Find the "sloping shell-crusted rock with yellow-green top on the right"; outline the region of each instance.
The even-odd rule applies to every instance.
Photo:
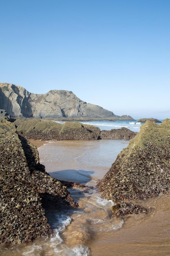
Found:
[[[169,193],[170,119],[165,119],[160,125],[146,121],[128,147],[119,153],[97,187],[104,198],[117,203],[117,207],[113,207],[114,216],[146,213],[146,209],[134,207],[130,201]]]

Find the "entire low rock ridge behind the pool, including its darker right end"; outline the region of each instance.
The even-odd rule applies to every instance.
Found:
[[[137,134],[127,128],[100,131],[96,126],[68,122],[59,124],[55,121],[40,119],[16,119],[14,124],[17,132],[26,139],[42,140],[97,140],[97,139],[125,139],[129,140]]]

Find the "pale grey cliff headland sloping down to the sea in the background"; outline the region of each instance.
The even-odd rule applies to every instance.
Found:
[[[121,119],[111,111],[80,100],[73,92],[51,90],[46,94],[34,94],[9,83],[0,83],[0,109],[5,110],[11,117]],[[133,120],[129,116],[122,118]]]

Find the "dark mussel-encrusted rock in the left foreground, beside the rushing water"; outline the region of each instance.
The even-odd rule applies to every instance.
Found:
[[[45,209],[77,207],[66,186],[40,164],[38,150],[0,123],[0,243],[25,243],[52,232]]]

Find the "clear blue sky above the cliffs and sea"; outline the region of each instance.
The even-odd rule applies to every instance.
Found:
[[[170,118],[170,0],[1,0],[0,82]]]

